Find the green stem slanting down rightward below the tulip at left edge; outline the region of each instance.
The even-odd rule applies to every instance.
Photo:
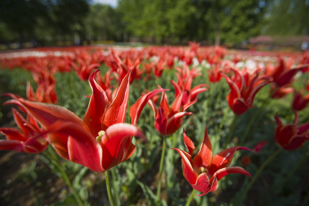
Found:
[[[48,147],[48,151],[49,151],[50,154],[47,153],[46,151],[44,151],[43,153],[50,158],[50,160],[53,162],[53,164],[61,172],[62,178],[66,182],[66,185],[70,188],[70,190],[71,190],[76,202],[78,203],[78,205],[84,206],[82,200],[79,198],[77,192],[75,191],[74,187],[72,186],[72,183],[71,183],[68,175],[66,174],[66,171],[64,171],[63,168],[61,167],[61,165],[59,164],[58,159],[57,159],[55,153],[53,152],[53,149],[50,146]]]

